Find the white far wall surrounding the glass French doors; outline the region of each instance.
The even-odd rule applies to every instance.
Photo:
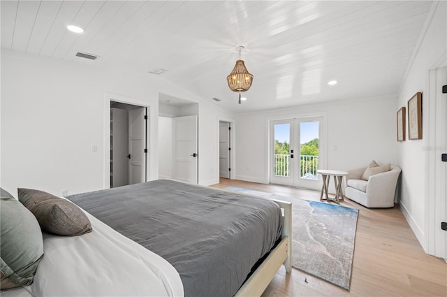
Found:
[[[348,170],[374,159],[397,164],[395,96],[321,103],[236,117],[236,179],[268,182],[269,119],[323,115],[325,168]]]

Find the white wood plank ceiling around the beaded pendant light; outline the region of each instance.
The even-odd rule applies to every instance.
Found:
[[[159,78],[233,113],[397,95],[432,1],[1,1],[1,47]],[[85,29],[74,34],[66,29]],[[237,104],[226,75],[254,74]],[[98,55],[96,61],[76,52]],[[337,80],[335,86],[328,81]],[[216,97],[220,102],[212,101]]]

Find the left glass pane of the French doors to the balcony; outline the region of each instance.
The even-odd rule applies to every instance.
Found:
[[[289,146],[291,124],[274,124],[274,172],[275,176],[289,176]]]

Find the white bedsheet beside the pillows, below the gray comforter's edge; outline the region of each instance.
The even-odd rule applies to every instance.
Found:
[[[44,233],[34,282],[1,296],[184,296],[168,261],[86,214],[91,233]]]

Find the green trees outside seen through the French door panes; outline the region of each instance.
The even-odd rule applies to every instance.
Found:
[[[287,141],[280,143],[274,140],[274,154],[287,155],[290,152],[290,145]],[[314,138],[307,143],[303,143],[300,147],[301,156],[318,156],[318,138]],[[316,176],[316,168],[318,168],[318,158],[301,158],[300,160],[300,176],[307,173],[312,173]],[[274,162],[274,175],[289,176],[288,175],[288,158],[277,157]]]

